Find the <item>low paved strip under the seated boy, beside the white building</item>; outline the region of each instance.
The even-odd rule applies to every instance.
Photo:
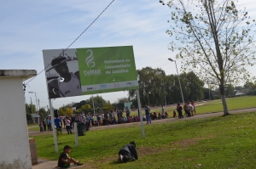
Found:
[[[32,169],[55,169],[57,166],[58,161],[45,161],[45,160],[38,160],[38,165],[32,166]],[[83,168],[84,166],[76,166],[71,165],[68,168]]]

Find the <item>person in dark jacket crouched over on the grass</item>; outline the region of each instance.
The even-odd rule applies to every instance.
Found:
[[[131,141],[130,144],[123,146],[119,150],[120,162],[135,161],[137,159],[138,157],[137,157],[136,144],[134,141]]]

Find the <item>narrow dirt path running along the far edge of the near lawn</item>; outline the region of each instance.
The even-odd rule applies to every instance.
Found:
[[[242,109],[242,110],[230,110],[230,114],[250,113],[250,112],[256,112],[256,107],[255,108]],[[191,116],[191,117],[184,117],[183,119],[178,119],[178,118],[161,119],[161,120],[152,121],[152,125],[166,123],[166,122],[172,122],[172,121],[189,121],[189,120],[192,120],[192,119],[203,119],[203,118],[221,116],[221,115],[223,115],[223,112],[212,112],[212,113],[207,113],[207,114],[203,114],[203,115],[194,115],[194,116]],[[143,124],[146,125],[146,122],[144,121]],[[111,129],[111,128],[117,128],[117,127],[137,127],[137,126],[140,126],[140,125],[141,125],[140,122],[131,122],[131,123],[118,124],[118,125],[108,125],[108,126],[102,126],[102,127],[90,127],[90,131]],[[52,133],[52,131],[28,132],[30,137],[31,136],[44,135],[44,134],[51,134],[51,133]],[[66,130],[63,130],[63,133],[66,133]]]

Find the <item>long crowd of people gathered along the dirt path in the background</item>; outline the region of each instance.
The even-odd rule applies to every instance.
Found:
[[[165,111],[163,105],[161,105],[161,113],[150,113],[150,107],[145,104],[144,106],[145,115],[143,115],[143,121],[147,121],[147,124],[151,124],[152,120],[158,119],[166,119],[169,117],[168,113]],[[183,110],[185,111],[185,116],[194,116],[195,115],[195,103],[194,101],[186,102],[183,106],[177,104],[177,114],[178,118],[183,118]],[[173,112],[173,117],[176,117],[176,111]],[[85,124],[85,128],[89,130],[90,127],[95,126],[105,126],[105,125],[113,125],[113,124],[121,124],[127,122],[138,122],[140,121],[140,115],[138,110],[138,115],[131,116],[131,112],[129,109],[125,109],[125,112],[122,110],[111,110],[108,112],[102,112],[97,115],[72,115],[66,116],[61,119],[60,117],[55,117],[55,127],[57,129],[64,128],[67,129],[67,133],[72,133],[72,128],[74,126],[74,122],[82,122]],[[51,120],[50,117],[47,121],[41,121],[39,124],[40,132],[46,132],[46,126],[48,126],[48,131],[51,130]]]

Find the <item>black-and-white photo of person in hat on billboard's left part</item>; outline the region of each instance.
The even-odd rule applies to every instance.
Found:
[[[77,50],[43,50],[49,99],[82,95]]]

